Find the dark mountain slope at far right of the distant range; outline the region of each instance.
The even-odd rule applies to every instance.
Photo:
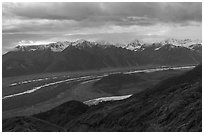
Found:
[[[164,46],[153,44],[142,47],[137,54],[138,57],[143,57],[146,63],[161,65],[199,64],[202,59],[201,53],[170,44]]]

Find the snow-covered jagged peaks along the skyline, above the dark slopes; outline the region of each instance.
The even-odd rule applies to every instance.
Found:
[[[191,50],[198,50],[201,51],[201,41],[200,40],[191,40],[191,39],[167,39],[162,42],[155,42],[151,44],[144,43],[140,40],[134,40],[127,45],[118,45],[118,44],[111,44],[107,41],[87,41],[84,39],[76,40],[76,41],[62,41],[62,42],[55,42],[49,44],[41,44],[41,45],[18,45],[12,51],[43,51],[43,50],[51,50],[53,52],[61,52],[66,49],[68,46],[74,46],[79,49],[83,48],[91,48],[94,46],[107,48],[115,45],[116,47],[122,46],[125,49],[129,49],[132,51],[143,51],[146,48],[154,49],[155,51],[160,50],[161,48],[167,48],[172,50],[177,47],[186,47]]]

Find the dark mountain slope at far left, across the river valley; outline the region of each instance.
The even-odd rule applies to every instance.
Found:
[[[44,69],[47,68],[57,57],[59,56],[50,50],[9,52],[3,55],[3,76],[44,72]]]

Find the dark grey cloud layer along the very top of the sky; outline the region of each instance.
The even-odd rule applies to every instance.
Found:
[[[202,3],[3,3],[3,16],[30,19],[82,21],[102,17],[106,21],[128,16],[160,21],[201,21]],[[97,21],[97,20],[96,20]]]

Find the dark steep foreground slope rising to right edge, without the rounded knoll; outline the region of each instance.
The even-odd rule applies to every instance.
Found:
[[[129,99],[99,104],[68,131],[202,131],[202,67]]]

